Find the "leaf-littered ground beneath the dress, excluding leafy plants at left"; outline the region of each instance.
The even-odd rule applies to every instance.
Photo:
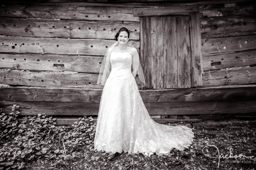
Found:
[[[108,160],[93,144],[77,147],[70,156],[56,160],[38,158],[25,164],[26,170],[254,170],[256,167],[256,132],[242,130],[193,129],[194,142],[184,151],[173,149],[167,156],[117,153]],[[207,145],[214,145],[208,146]],[[206,147],[206,148],[204,148]],[[203,154],[204,148],[204,154]],[[231,149],[231,150],[230,150]],[[223,157],[218,160],[218,154]],[[241,158],[234,158],[235,155]],[[206,156],[208,155],[208,156]],[[231,156],[230,156],[231,155]],[[252,157],[252,158],[245,158]],[[210,158],[215,157],[215,158]]]

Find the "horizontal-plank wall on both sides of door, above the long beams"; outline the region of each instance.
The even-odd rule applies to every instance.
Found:
[[[122,26],[140,47],[140,19],[133,16],[134,7],[88,5],[94,4],[2,5],[0,83],[102,88],[92,73],[99,72]],[[253,2],[199,5],[204,87],[256,83],[255,8]]]

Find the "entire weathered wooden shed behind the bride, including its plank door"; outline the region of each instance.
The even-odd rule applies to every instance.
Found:
[[[0,6],[0,107],[70,124],[97,117],[102,58],[121,27],[140,52],[155,121],[255,119],[254,0],[8,0]],[[164,119],[163,119],[164,118]]]

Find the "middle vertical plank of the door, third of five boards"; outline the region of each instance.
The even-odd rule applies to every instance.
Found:
[[[175,16],[164,17],[164,88],[178,88],[176,24]]]

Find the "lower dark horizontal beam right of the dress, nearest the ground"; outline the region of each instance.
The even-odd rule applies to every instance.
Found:
[[[152,115],[193,115],[250,113],[256,111],[256,100],[223,100],[200,102],[145,103]]]

